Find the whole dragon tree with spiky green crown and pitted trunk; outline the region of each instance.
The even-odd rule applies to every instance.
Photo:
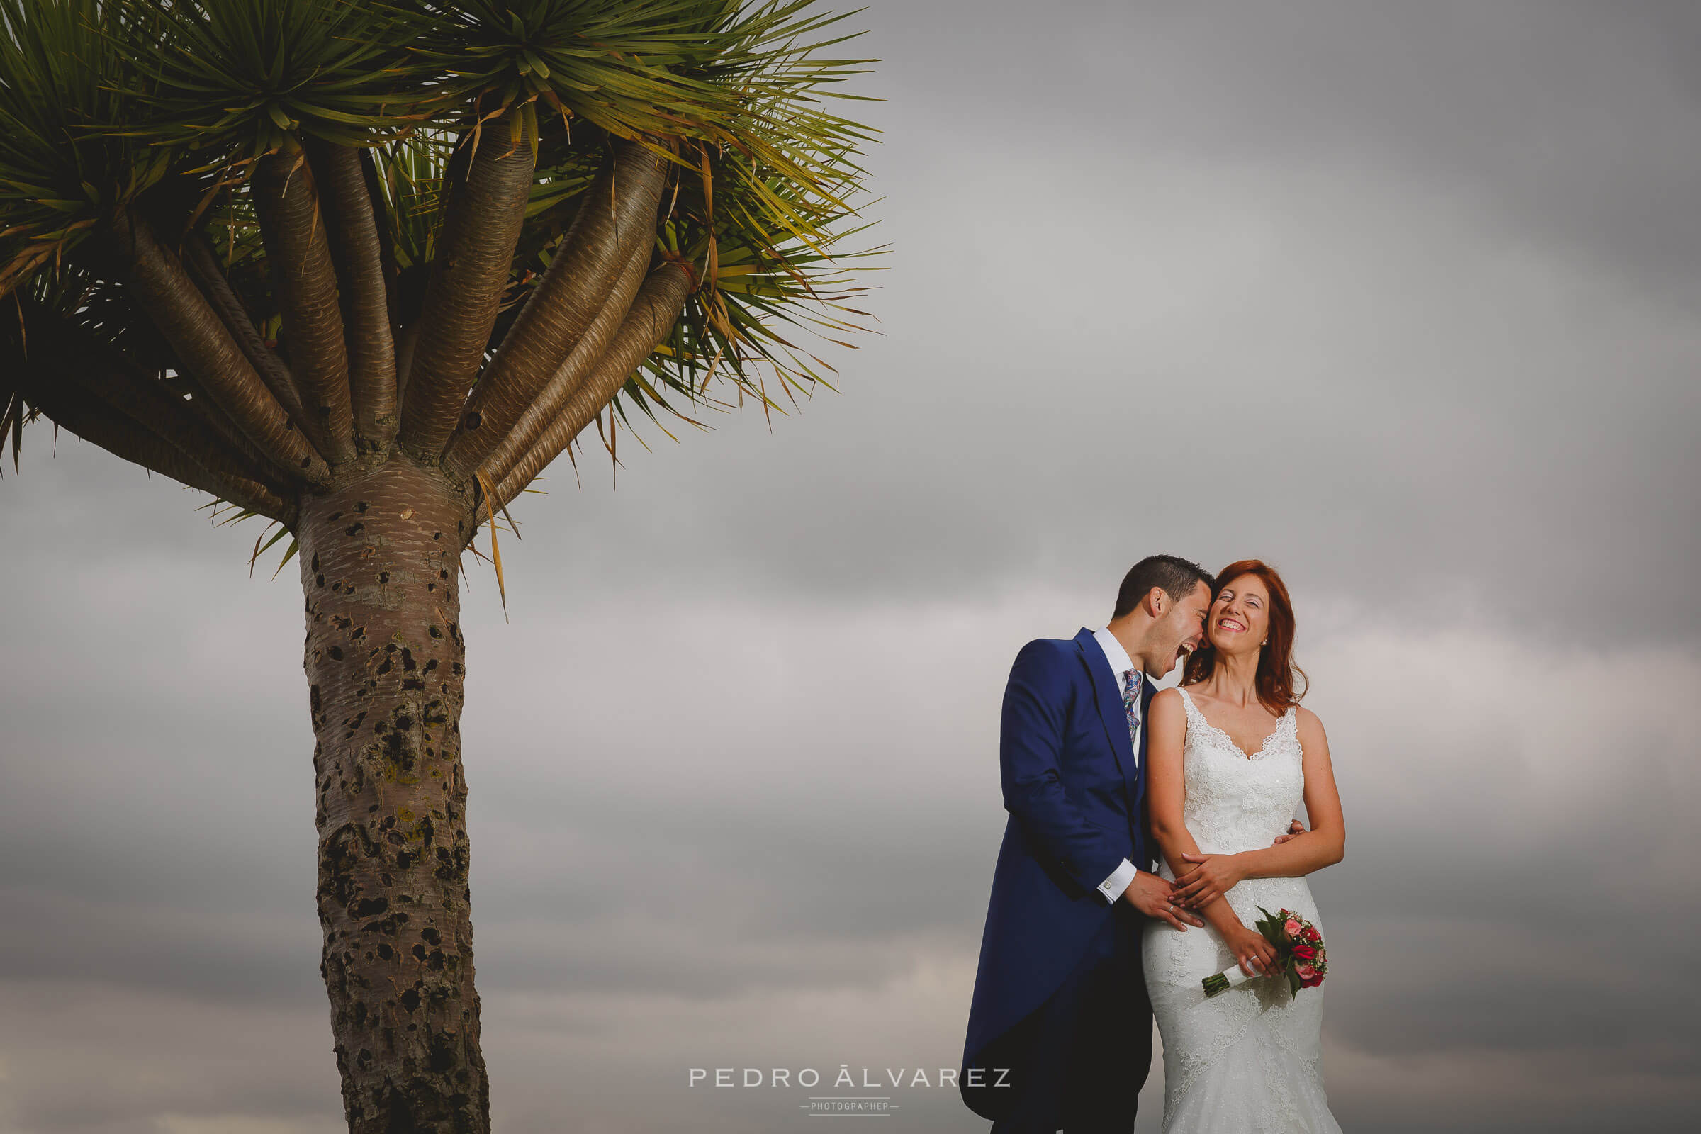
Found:
[[[350,1131],[490,1129],[463,554],[488,527],[500,581],[582,434],[781,410],[864,321],[840,19],[0,0],[0,442],[48,420],[264,520],[250,570],[289,537]]]

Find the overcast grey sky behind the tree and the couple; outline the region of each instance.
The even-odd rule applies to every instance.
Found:
[[[1010,658],[1152,551],[1296,597],[1342,1125],[1687,1129],[1692,5],[856,20],[895,250],[840,393],[551,469],[512,622],[466,559],[497,1131],[794,1131],[687,1068],[956,1066]],[[49,449],[0,483],[0,1134],[337,1131],[294,566]]]

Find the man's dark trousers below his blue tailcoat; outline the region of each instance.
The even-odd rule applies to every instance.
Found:
[[[1051,996],[993,1040],[980,1064],[1009,1068],[1009,1110],[992,1134],[1131,1134],[1152,1069],[1152,1001],[1140,971],[1143,918],[1118,901]],[[988,1083],[998,1076],[988,1071]]]

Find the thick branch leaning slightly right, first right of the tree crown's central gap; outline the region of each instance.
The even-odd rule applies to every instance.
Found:
[[[427,464],[437,464],[485,360],[531,196],[534,160],[519,109],[480,134],[451,192],[403,381],[400,442]],[[463,136],[461,145],[475,141]]]

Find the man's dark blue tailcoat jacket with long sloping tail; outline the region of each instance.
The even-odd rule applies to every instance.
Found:
[[[1141,719],[1155,687],[1141,678]],[[1063,983],[1111,916],[1097,891],[1126,857],[1152,869],[1121,677],[1092,631],[1022,646],[1004,690],[998,775],[1010,813],[992,877],[963,1066]],[[1131,959],[1138,964],[1138,957]]]

